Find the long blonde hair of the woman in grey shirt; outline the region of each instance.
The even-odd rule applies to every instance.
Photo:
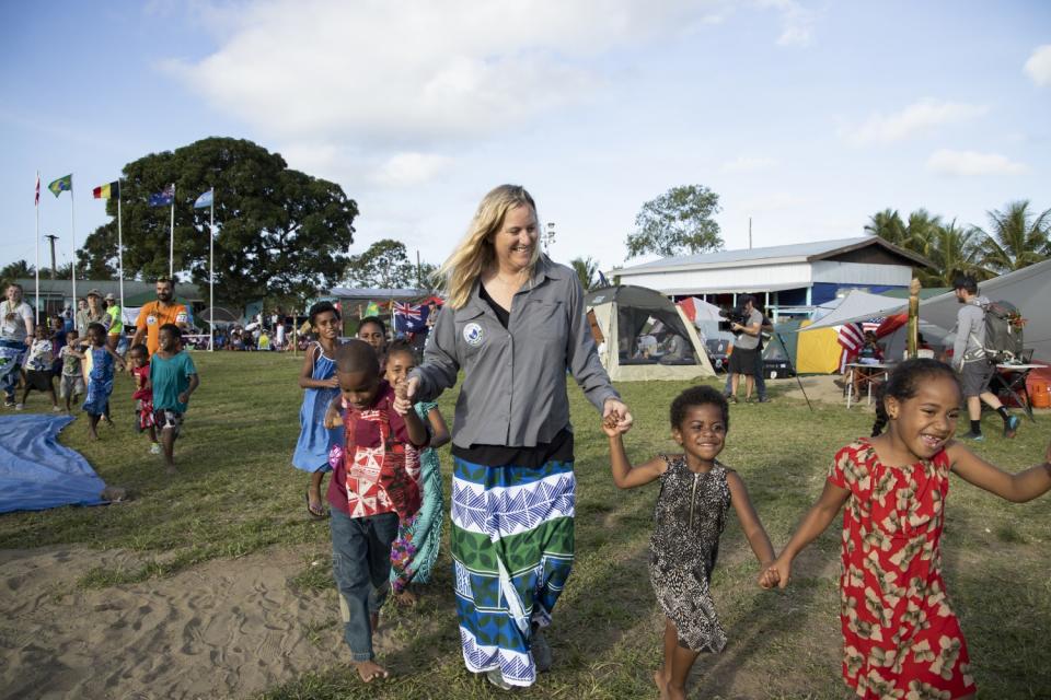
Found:
[[[536,202],[520,185],[500,185],[482,198],[478,210],[471,220],[467,234],[463,236],[457,249],[442,264],[436,276],[442,280],[448,303],[453,308],[462,308],[471,296],[474,281],[493,264],[496,253],[490,237],[504,225],[504,217],[516,207],[529,207],[536,217]],[[538,220],[539,225],[539,220]],[[540,258],[540,246],[533,246],[533,256],[529,261],[529,272]]]

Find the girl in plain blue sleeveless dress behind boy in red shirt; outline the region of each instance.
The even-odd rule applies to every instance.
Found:
[[[317,340],[307,349],[303,366],[299,373],[299,386],[303,392],[303,406],[299,409],[299,441],[292,454],[292,466],[310,472],[307,490],[307,513],[315,518],[325,517],[321,485],[328,466],[328,451],[343,444],[343,427],[325,428],[325,411],[332,399],[339,395],[336,378],[336,347],[339,345],[339,312],[331,302],[317,302],[310,307],[310,327]]]

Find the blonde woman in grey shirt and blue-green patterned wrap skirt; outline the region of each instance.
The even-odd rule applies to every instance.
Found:
[[[452,557],[467,669],[500,688],[550,668],[541,630],[573,565],[576,480],[566,371],[603,418],[632,416],[599,363],[576,273],[541,255],[533,198],[501,185],[439,270],[448,302],[408,399],[464,370],[452,432]],[[406,410],[407,410],[406,408]]]

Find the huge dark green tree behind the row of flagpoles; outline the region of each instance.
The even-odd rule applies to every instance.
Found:
[[[175,184],[176,275],[208,283],[208,209],[194,209],[215,187],[216,293],[234,306],[262,296],[305,298],[340,277],[354,243],[357,203],[335,183],[288,167],[251,141],[209,138],[152,153],[124,167],[120,179],[126,277],[169,269],[170,207],[148,198]],[[116,218],[117,201],[107,201]],[[96,229],[80,252],[84,269],[116,269],[117,223]]]

